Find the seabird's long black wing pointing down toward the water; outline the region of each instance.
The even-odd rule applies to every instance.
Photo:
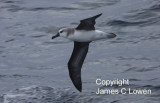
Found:
[[[74,49],[68,62],[70,78],[74,86],[81,92],[81,67],[87,55],[90,42],[74,42]]]

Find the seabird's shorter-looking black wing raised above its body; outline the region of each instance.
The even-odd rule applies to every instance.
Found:
[[[94,27],[94,25],[96,24],[95,20],[101,15],[102,13],[96,16],[81,20],[76,30],[95,30],[95,27]]]

